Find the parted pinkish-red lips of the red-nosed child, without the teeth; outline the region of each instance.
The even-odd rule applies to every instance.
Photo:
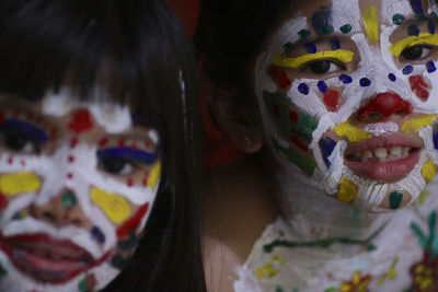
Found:
[[[419,160],[423,142],[403,133],[372,137],[362,142],[349,143],[345,157],[349,154],[360,153],[377,148],[408,147],[415,149],[407,157],[389,162],[358,162],[345,159],[345,165],[355,174],[376,180],[400,179],[406,176]]]

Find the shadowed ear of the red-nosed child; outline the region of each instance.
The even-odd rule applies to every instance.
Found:
[[[216,87],[207,78],[200,79],[203,94],[207,98],[209,114],[228,138],[244,153],[262,148],[262,137],[256,122],[250,118],[243,96],[235,90]]]

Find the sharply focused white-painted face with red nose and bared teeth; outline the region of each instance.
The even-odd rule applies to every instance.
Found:
[[[419,197],[438,164],[438,8],[426,2],[295,1],[255,68],[289,174],[362,210]]]

